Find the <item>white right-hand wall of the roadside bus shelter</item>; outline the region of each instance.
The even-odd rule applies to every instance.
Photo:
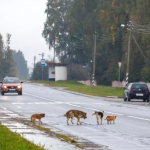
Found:
[[[67,67],[55,66],[55,81],[67,80]]]

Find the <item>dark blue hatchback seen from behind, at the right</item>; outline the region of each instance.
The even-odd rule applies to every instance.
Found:
[[[142,99],[149,102],[149,89],[145,83],[130,83],[124,91],[124,101]]]

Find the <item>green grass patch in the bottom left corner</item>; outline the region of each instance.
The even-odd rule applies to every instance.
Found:
[[[0,150],[44,150],[0,124]]]

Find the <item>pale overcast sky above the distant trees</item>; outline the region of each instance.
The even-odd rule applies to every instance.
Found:
[[[42,37],[43,24],[46,20],[44,10],[47,0],[0,0],[0,33],[6,39],[6,33],[12,34],[11,49],[21,50],[28,66],[33,67],[33,57],[41,59],[52,57],[45,39]]]

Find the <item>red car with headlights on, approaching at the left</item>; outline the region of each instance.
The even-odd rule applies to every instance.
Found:
[[[18,95],[22,95],[22,85],[18,78],[16,77],[5,77],[1,84],[1,95],[4,93],[18,93]]]

